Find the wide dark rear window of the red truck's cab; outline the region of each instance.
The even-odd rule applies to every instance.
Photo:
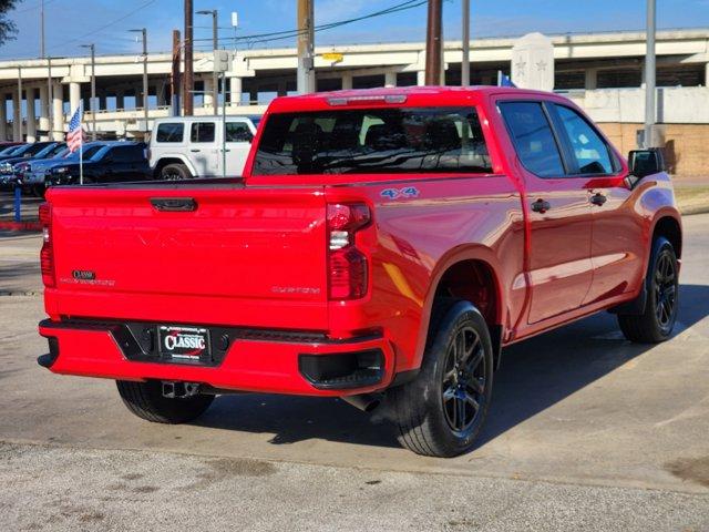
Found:
[[[417,172],[492,172],[474,108],[274,114],[254,163],[254,175]]]

